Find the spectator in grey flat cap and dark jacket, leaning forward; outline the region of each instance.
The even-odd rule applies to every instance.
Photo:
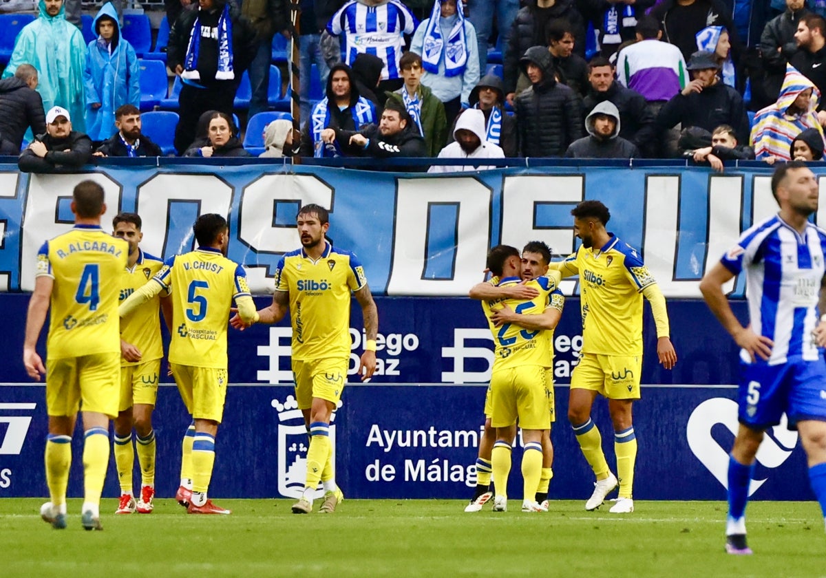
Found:
[[[688,69],[691,82],[662,107],[654,123],[655,134],[664,138],[678,123],[684,130],[698,126],[709,132],[717,126],[729,125],[734,127],[738,142],[748,142],[749,122],[743,97],[719,81],[714,53],[691,54]]]

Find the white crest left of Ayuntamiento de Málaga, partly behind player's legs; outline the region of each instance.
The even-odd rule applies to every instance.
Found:
[[[306,480],[307,449],[310,440],[304,424],[304,415],[298,409],[295,396],[287,396],[282,403],[273,400],[273,409],[278,411],[278,493],[287,498],[300,498]],[[341,407],[341,401],[336,407]],[[330,443],[335,448],[335,412],[330,418]],[[333,452],[333,471],[335,471],[335,452]],[[319,486],[314,498],[324,496],[324,489]]]

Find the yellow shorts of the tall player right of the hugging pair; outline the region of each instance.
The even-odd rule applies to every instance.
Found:
[[[582,353],[571,376],[571,389],[596,391],[609,400],[638,400],[642,371],[639,355]]]

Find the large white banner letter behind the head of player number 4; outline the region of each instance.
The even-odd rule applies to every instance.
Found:
[[[74,217],[69,213],[72,191],[78,182],[89,180],[103,187],[103,200],[107,209],[101,217],[101,222],[104,230],[111,232],[107,225],[112,223],[112,218],[117,215],[121,206],[121,186],[117,182],[102,173],[31,174],[21,242],[20,286],[23,291],[32,291],[35,288],[35,262],[37,251],[43,242],[62,235],[74,226]],[[58,222],[61,201],[65,220]]]

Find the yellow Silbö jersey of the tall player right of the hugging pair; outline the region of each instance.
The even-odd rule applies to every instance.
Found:
[[[657,281],[636,249],[611,235],[602,249],[580,246],[559,272],[579,274],[582,353],[642,355],[642,291]]]

